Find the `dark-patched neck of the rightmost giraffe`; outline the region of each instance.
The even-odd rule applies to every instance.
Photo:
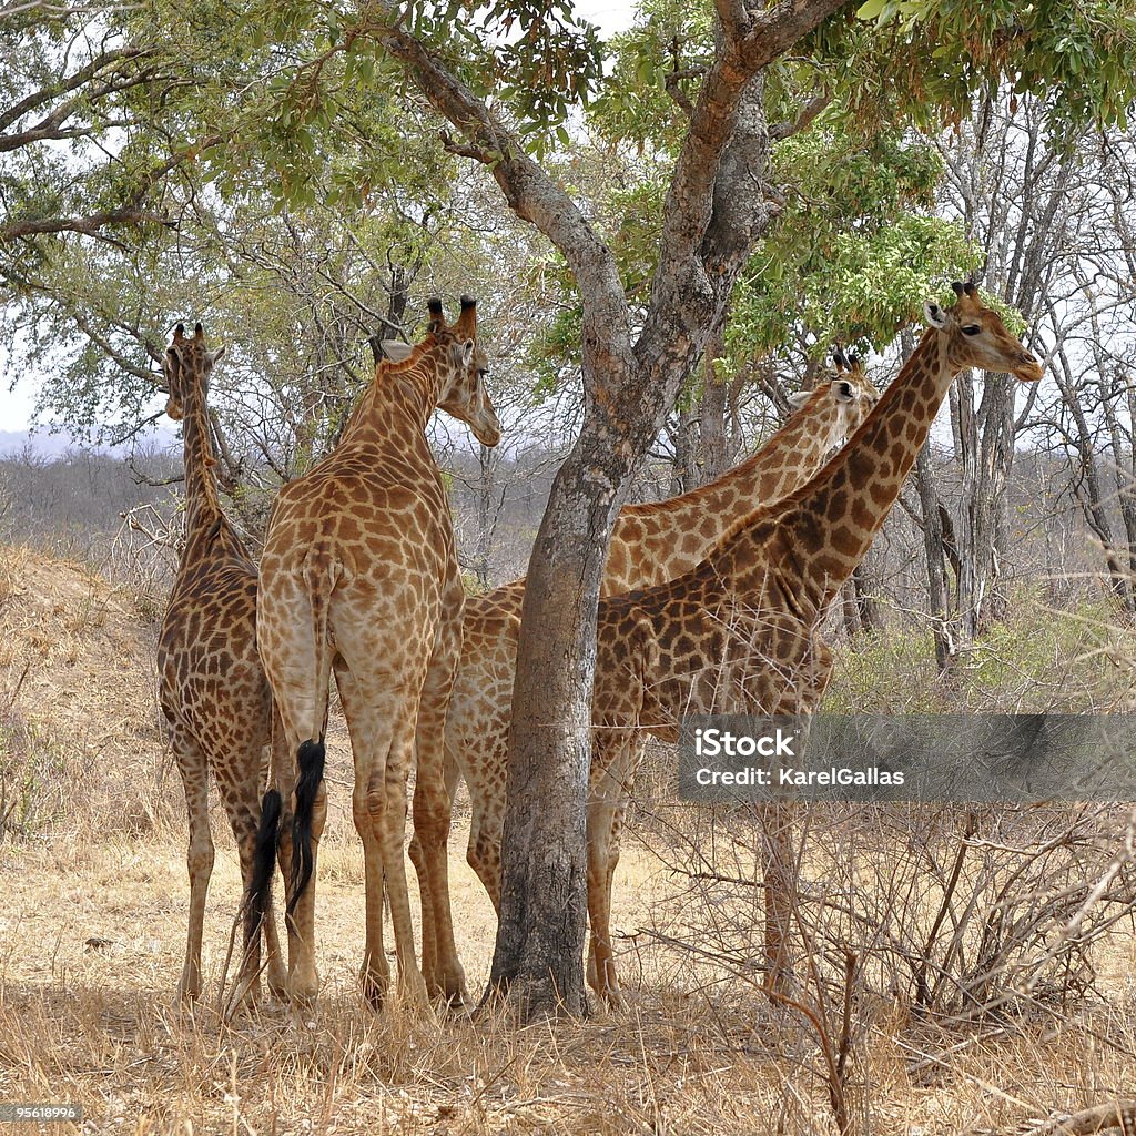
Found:
[[[934,329],[872,412],[824,469],[775,509],[754,513],[717,566],[738,594],[760,594],[770,569],[805,615],[824,611],[863,559],[900,495],[955,368]]]

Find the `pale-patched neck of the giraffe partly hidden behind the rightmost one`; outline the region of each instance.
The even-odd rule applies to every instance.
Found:
[[[713,517],[720,540],[743,517],[762,502],[783,498],[817,469],[838,441],[840,409],[828,390],[815,391],[809,401],[745,461],[700,488],[646,507],[630,506],[665,519],[670,532],[696,531]]]

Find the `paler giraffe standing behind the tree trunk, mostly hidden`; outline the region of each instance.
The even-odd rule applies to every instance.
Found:
[[[863,368],[849,365],[842,356],[835,374],[822,378],[816,390],[790,396],[795,412],[786,424],[722,477],[667,501],[626,506],[612,533],[602,594],[649,587],[696,565],[755,502],[776,500],[808,481],[828,451],[867,417],[877,398]],[[466,601],[461,663],[445,725],[448,795],[452,800],[465,776],[473,804],[467,858],[495,908],[500,907],[499,846],[523,600],[524,580],[517,580]],[[417,833],[410,855],[421,880]],[[424,919],[427,983],[431,930]]]

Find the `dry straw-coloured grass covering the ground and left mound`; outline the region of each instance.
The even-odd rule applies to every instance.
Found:
[[[684,905],[687,884],[667,868],[678,834],[658,822],[628,835],[616,880],[627,1008],[515,1030],[398,1004],[376,1016],[360,1002],[362,862],[334,782],[319,1004],[308,1020],[266,1002],[222,1022],[214,1003],[240,884],[218,816],[208,996],[179,1012],[184,819],[156,724],[152,627],[83,568],[19,550],[0,561],[0,766],[26,782],[31,805],[0,843],[0,1102],[74,1102],[92,1133],[834,1131],[815,1028],[771,1010],[733,955],[690,950],[692,936],[712,945],[735,900]],[[345,779],[341,729],[331,742],[332,776]],[[494,919],[457,851],[466,825],[461,811],[453,899],[477,991]],[[1095,950],[1103,993],[1060,1013],[944,1028],[900,996],[859,989],[852,1130],[1010,1133],[1130,1091],[1130,926]]]

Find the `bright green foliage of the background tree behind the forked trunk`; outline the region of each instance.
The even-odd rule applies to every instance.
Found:
[[[787,98],[786,83],[767,90],[770,117]],[[866,134],[838,103],[779,143],[770,179],[785,207],[735,289],[732,367],[801,342],[816,357],[836,341],[882,349],[932,292],[971,272],[980,250],[957,224],[932,216],[941,175],[942,160],[921,137],[899,127]],[[638,184],[612,190],[598,210],[633,298],[645,294],[655,269],[665,194],[662,169],[648,165]],[[562,286],[570,295],[566,274]],[[579,318],[573,301],[537,337],[543,383],[578,360]]]

